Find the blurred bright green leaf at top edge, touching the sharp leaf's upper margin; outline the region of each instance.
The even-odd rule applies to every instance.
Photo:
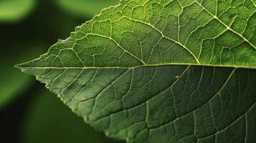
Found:
[[[100,10],[118,4],[118,0],[57,0],[57,6],[75,16],[87,17],[99,14]]]

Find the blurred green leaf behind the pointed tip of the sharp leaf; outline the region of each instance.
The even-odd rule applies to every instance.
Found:
[[[14,68],[14,64],[34,58],[36,54],[42,54],[43,46],[27,45],[26,48],[19,48],[6,46],[6,48],[1,47],[0,49],[0,112],[32,82],[29,76],[20,74],[19,70]]]

